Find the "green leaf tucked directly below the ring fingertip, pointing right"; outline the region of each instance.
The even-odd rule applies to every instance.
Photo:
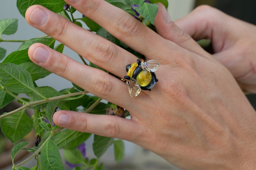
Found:
[[[44,69],[43,67],[40,67],[34,63],[22,63],[19,66],[29,72],[33,81],[38,80],[40,78],[44,78],[44,77],[52,74],[50,71],[48,71],[48,70]]]

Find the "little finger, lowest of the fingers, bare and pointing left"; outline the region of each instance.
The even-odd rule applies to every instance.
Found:
[[[71,130],[100,136],[136,141],[140,131],[138,123],[113,115],[96,115],[73,111],[57,111],[53,115],[56,125]],[[136,134],[134,133],[136,131]]]

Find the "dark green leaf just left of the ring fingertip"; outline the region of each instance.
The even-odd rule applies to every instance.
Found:
[[[13,51],[2,63],[13,63],[19,65],[22,63],[32,63],[32,61],[28,57],[28,50],[24,49],[21,51]]]

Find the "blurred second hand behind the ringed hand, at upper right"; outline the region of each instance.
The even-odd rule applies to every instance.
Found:
[[[211,39],[213,57],[231,71],[242,89],[256,92],[255,25],[206,5],[196,8],[175,24],[195,40]],[[162,37],[172,40],[175,37],[169,29],[165,25],[157,31]]]

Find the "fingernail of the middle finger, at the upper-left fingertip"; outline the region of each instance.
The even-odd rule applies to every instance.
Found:
[[[34,9],[34,11],[30,14],[29,21],[34,23],[35,25],[41,26],[44,25],[47,21],[48,15],[40,8]]]

